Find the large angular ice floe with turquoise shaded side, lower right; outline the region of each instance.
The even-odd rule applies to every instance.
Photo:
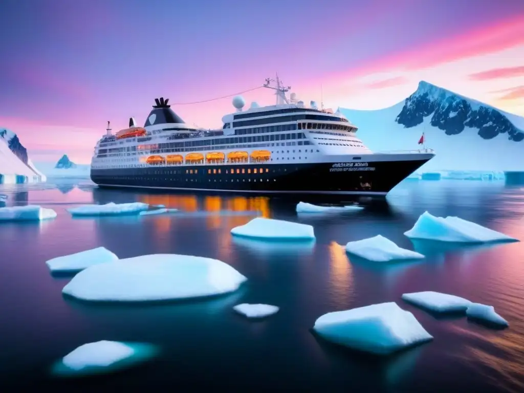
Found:
[[[412,313],[395,302],[324,314],[313,330],[335,344],[377,355],[433,339]]]

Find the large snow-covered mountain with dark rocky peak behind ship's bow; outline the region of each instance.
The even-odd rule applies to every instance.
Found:
[[[389,108],[340,108],[374,152],[421,148],[436,152],[423,170],[524,171],[524,118],[421,81]]]

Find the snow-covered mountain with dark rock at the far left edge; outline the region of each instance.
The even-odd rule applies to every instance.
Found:
[[[46,181],[27,156],[27,150],[12,131],[0,128],[0,183]]]

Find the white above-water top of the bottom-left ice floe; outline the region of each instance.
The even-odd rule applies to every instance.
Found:
[[[81,370],[85,367],[107,367],[133,356],[134,352],[133,348],[126,344],[102,340],[79,346],[73,352],[65,355],[62,362],[74,370]]]

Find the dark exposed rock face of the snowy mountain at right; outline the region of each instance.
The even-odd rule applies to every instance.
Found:
[[[469,99],[431,83],[420,81],[416,92],[405,101],[395,121],[405,128],[422,124],[425,117],[430,124],[445,132],[457,135],[474,132],[483,139],[505,135],[508,140],[524,140],[524,130],[517,128],[501,111],[489,105]]]

